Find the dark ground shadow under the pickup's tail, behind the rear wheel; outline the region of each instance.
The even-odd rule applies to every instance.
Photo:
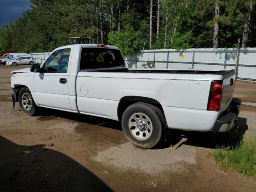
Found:
[[[244,133],[248,130],[246,118],[238,118],[237,128],[226,133],[212,133],[212,132],[188,132],[181,130],[173,130],[168,140],[164,142],[159,148],[170,147],[171,145],[178,150],[182,145],[191,145],[204,148],[216,148],[226,146],[235,148],[238,142],[242,140]],[[181,142],[182,140],[185,140]]]

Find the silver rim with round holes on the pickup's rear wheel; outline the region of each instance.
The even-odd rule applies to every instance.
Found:
[[[144,113],[134,113],[130,116],[128,127],[132,136],[138,140],[150,138],[153,126],[150,118]]]

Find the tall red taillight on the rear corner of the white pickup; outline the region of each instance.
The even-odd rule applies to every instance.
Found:
[[[213,81],[208,101],[208,110],[218,111],[222,95],[222,81]]]

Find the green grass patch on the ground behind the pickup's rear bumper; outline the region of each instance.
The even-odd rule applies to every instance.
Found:
[[[213,157],[224,170],[235,170],[256,178],[256,138],[244,137],[236,146],[220,146]]]

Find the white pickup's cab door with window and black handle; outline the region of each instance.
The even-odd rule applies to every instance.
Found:
[[[34,75],[34,96],[40,106],[71,110],[68,100],[70,48],[56,50],[44,62],[43,71]]]

